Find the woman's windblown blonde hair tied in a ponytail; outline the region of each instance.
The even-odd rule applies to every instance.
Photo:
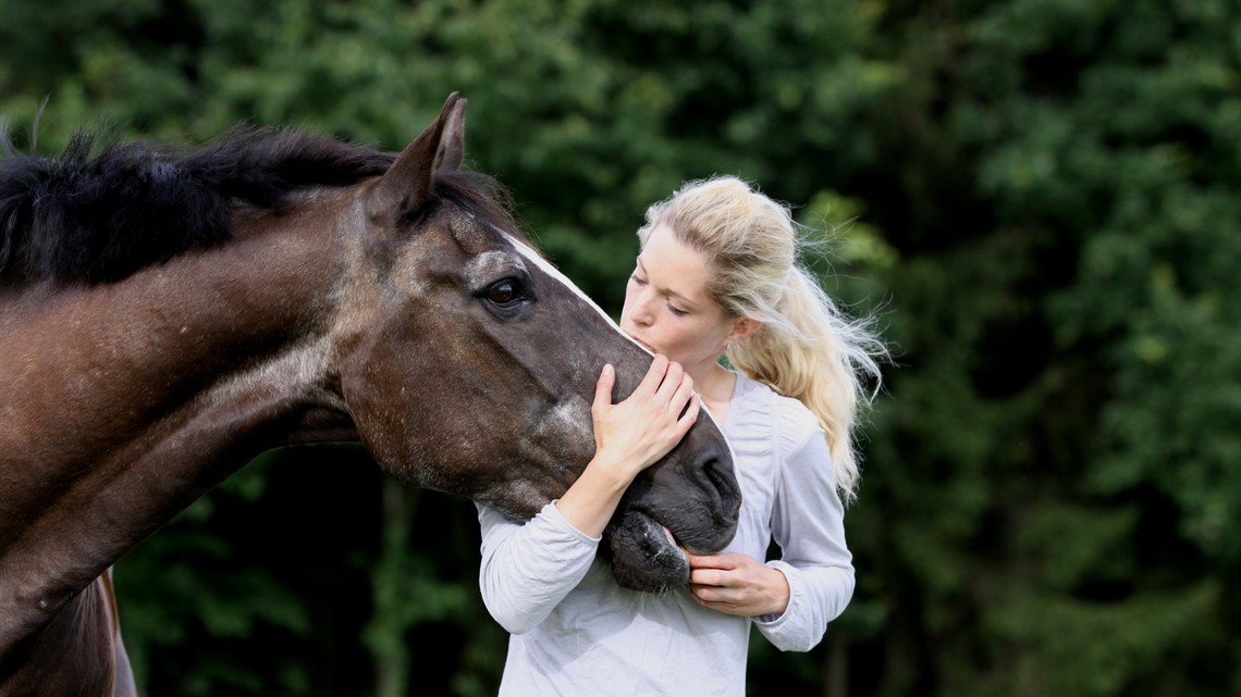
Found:
[[[886,353],[872,322],[848,317],[798,263],[799,227],[789,208],[737,177],[690,181],[650,206],[638,231],[643,246],[660,223],[710,260],[707,293],[727,316],[762,322],[725,355],[742,375],[810,409],[827,434],[841,499],[856,499],[854,425],[879,388],[875,358]]]

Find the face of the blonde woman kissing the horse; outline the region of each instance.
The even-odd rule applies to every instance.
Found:
[[[711,268],[666,224],[650,232],[624,293],[620,329],[700,380],[715,366],[737,320],[706,290]]]

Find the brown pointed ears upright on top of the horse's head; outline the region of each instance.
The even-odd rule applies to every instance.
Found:
[[[465,155],[465,99],[448,95],[439,117],[400,155],[371,190],[367,212],[372,218],[398,220],[431,198],[439,170],[454,171]]]

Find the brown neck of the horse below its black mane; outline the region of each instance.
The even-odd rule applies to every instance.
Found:
[[[330,327],[350,253],[310,215],[0,306],[0,656],[253,455],[310,422],[349,435]]]

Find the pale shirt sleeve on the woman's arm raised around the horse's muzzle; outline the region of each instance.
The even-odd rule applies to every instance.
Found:
[[[483,531],[479,590],[488,613],[511,634],[541,623],[589,570],[599,538],[570,523],[555,501],[521,523],[475,504]]]

